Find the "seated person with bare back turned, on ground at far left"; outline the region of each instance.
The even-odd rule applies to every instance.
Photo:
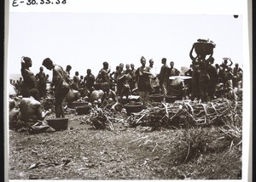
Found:
[[[32,88],[29,91],[30,97],[28,98],[22,98],[20,100],[20,113],[19,113],[19,121],[16,124],[17,128],[26,128],[29,126],[32,126],[35,130],[41,130],[44,132],[48,131],[54,131],[53,128],[50,128],[49,125],[46,124],[46,122],[43,122],[44,117],[49,115],[49,111],[42,111],[42,105],[38,100],[35,100],[35,98],[38,97],[38,89]],[[40,123],[39,127],[38,123]]]

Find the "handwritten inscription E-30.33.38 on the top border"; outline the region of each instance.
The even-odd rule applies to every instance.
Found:
[[[13,0],[13,7],[18,7],[19,5],[43,5],[43,4],[65,4],[67,0]]]

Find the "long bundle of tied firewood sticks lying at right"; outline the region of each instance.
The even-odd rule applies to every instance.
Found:
[[[147,110],[132,113],[131,117],[128,117],[128,122],[131,127],[146,125],[152,129],[237,121],[241,124],[241,113],[241,101],[218,99],[206,104],[177,100],[174,103],[152,103]]]

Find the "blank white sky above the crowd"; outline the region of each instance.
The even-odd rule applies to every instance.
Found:
[[[36,74],[49,57],[64,69],[93,74],[108,61],[111,71],[119,63],[140,66],[140,58],[153,59],[159,73],[161,59],[177,69],[189,67],[189,51],[197,39],[216,44],[215,63],[224,57],[243,64],[242,17],[231,14],[111,14],[17,13],[9,14],[9,74],[20,73],[22,56],[32,58]],[[51,76],[51,71],[44,68]]]

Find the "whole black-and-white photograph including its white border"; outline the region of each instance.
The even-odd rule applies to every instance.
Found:
[[[8,179],[247,181],[247,14],[70,1],[9,3]]]

